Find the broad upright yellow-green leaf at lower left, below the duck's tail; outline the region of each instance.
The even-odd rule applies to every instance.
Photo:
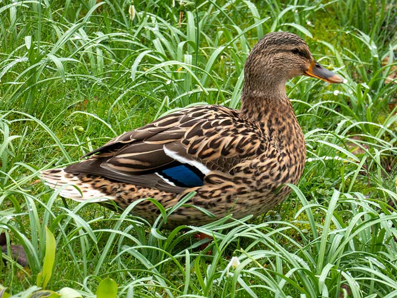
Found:
[[[37,275],[36,284],[45,289],[51,276],[55,261],[55,238],[51,231],[45,227],[45,256],[43,270]]]

